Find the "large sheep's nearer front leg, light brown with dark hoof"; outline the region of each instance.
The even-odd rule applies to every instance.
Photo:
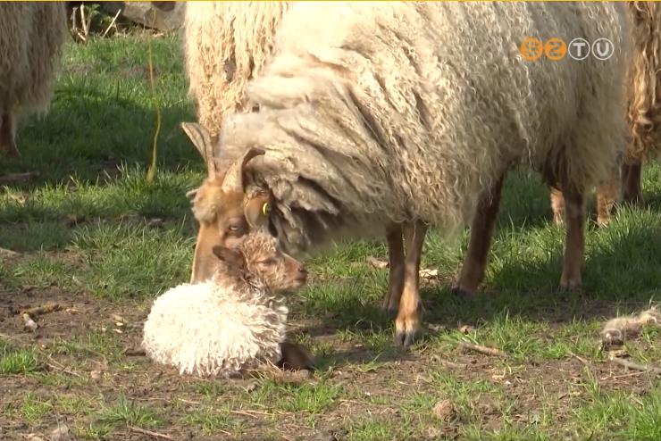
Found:
[[[404,288],[395,320],[395,344],[410,346],[421,327],[420,260],[423,254],[427,225],[415,221],[404,226],[406,255],[404,257]]]

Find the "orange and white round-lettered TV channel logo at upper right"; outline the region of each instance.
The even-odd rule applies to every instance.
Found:
[[[582,61],[590,56],[590,54],[599,61],[606,61],[615,53],[615,45],[608,38],[597,38],[592,42],[585,38],[573,38],[568,44],[564,39],[559,37],[548,38],[546,42],[542,42],[540,38],[526,37],[523,38],[519,52],[523,60],[528,62],[535,62],[539,60],[542,55],[548,60],[557,62],[569,58]]]

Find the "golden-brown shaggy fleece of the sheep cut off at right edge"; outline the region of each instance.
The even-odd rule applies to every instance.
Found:
[[[633,60],[627,121],[629,161],[661,152],[661,4],[630,2]],[[657,151],[653,150],[657,148]]]

